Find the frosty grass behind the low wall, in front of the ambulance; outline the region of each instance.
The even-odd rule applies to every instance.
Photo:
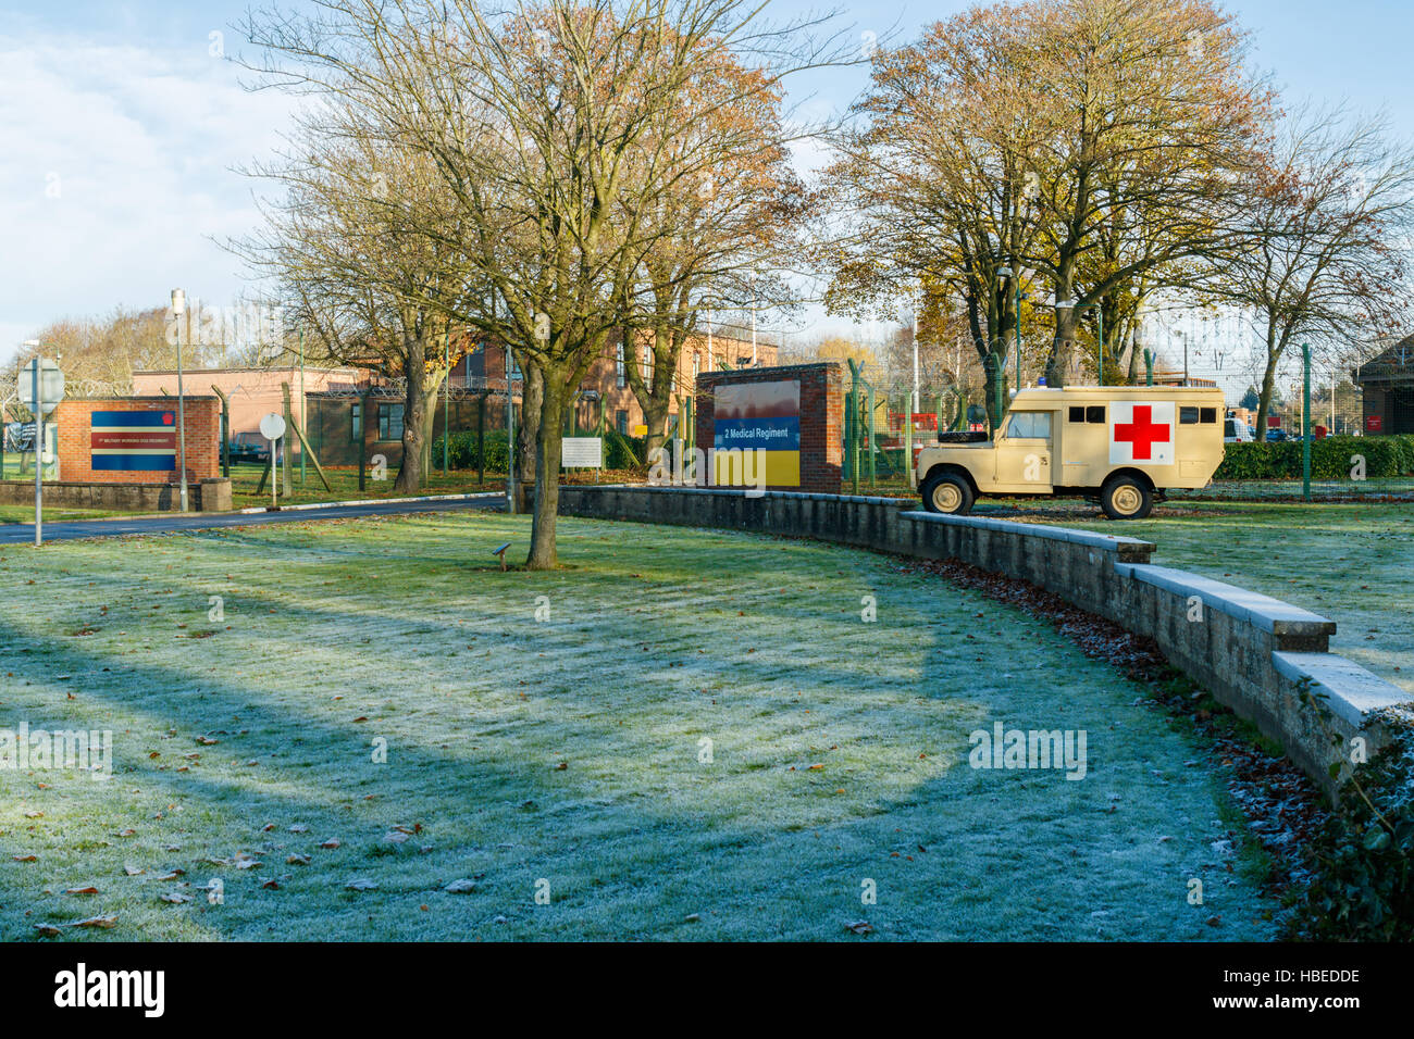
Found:
[[[1062,522],[1121,533],[1093,515]],[[1123,533],[1157,543],[1154,563],[1331,618],[1332,652],[1414,694],[1414,503],[1174,503]]]

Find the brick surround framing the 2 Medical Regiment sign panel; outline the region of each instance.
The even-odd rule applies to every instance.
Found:
[[[768,491],[840,493],[844,464],[844,369],[833,362],[752,368],[740,372],[703,372],[697,376],[697,447],[707,452],[715,435],[714,394],[725,383],[800,383],[800,486]]]

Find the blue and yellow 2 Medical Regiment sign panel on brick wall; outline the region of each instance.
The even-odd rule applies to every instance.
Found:
[[[718,486],[800,486],[799,380],[717,386],[713,425]]]

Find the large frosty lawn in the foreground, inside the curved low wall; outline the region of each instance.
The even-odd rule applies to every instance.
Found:
[[[0,770],[0,936],[1273,936],[1196,738],[1048,625],[732,533],[563,520],[563,571],[495,570],[526,534],[464,513],[6,548],[0,728],[112,729],[115,768]],[[994,721],[1085,729],[1086,777],[969,768]],[[95,916],[117,920],[65,926]]]

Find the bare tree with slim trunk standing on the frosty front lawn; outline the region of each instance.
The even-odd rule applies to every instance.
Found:
[[[448,198],[419,233],[467,262],[428,308],[509,344],[540,380],[527,565],[556,565],[563,414],[619,327],[625,284],[665,233],[682,140],[718,106],[683,99],[704,61],[754,55],[771,90],[827,54],[805,23],[765,24],[742,0],[327,0],[320,18],[266,18],[262,71],[348,100],[426,155]],[[676,113],[669,124],[665,113]],[[667,131],[670,129],[670,133]],[[482,294],[481,288],[489,290]]]

